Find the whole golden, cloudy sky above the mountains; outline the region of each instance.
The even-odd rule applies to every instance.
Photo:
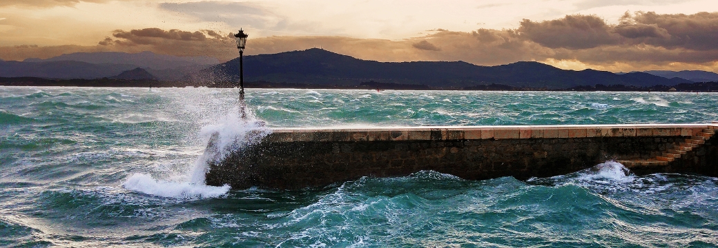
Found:
[[[1,0],[0,59],[72,52],[238,56],[312,47],[383,62],[537,61],[718,72],[716,0]]]

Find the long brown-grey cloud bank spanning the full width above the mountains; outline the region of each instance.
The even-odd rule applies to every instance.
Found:
[[[323,47],[360,59],[385,62],[465,61],[502,65],[539,61],[565,68],[604,70],[718,71],[718,13],[624,14],[618,24],[592,15],[569,15],[516,29],[453,32],[434,29],[407,39],[360,39],[340,36],[273,36],[248,39],[246,54]],[[116,30],[95,47],[0,47],[0,59],[57,56],[62,52],[152,51],[178,56],[237,57],[232,34],[213,30]],[[437,52],[440,51],[440,52]],[[692,66],[692,67],[691,67]],[[712,69],[711,69],[712,68]]]

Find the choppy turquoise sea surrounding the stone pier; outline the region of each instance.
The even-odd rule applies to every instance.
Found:
[[[0,247],[718,247],[718,178],[615,161],[520,181],[435,171],[206,186],[212,133],[710,123],[717,93],[0,87]],[[264,123],[258,125],[257,123]]]

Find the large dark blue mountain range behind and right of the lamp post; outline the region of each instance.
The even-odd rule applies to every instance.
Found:
[[[515,62],[493,67],[467,62],[377,62],[356,59],[324,49],[259,54],[244,57],[244,79],[250,81],[359,85],[361,82],[401,83],[432,87],[501,84],[551,89],[580,85],[676,85],[691,82],[645,72],[617,75],[597,70],[561,70],[538,62]],[[232,59],[192,72],[184,81],[209,85],[238,80],[239,60]]]

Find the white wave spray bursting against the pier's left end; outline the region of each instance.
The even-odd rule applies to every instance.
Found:
[[[177,181],[166,181],[145,173],[135,173],[122,186],[131,191],[177,199],[213,198],[227,194],[230,189],[228,185],[205,184],[208,164],[221,161],[244,146],[258,143],[271,133],[263,120],[257,120],[251,111],[247,114],[247,118],[242,119],[238,111],[233,109],[216,124],[205,125],[200,130],[199,136],[202,140],[208,140],[208,146],[187,171],[187,176],[180,176]]]

